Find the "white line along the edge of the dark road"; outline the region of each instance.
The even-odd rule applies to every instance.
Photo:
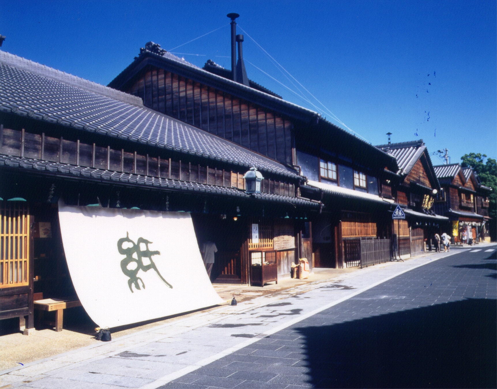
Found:
[[[459,252],[461,252],[461,251],[459,251]],[[423,259],[429,259],[430,261],[431,260],[436,261],[438,259],[447,258],[450,255],[459,254],[459,252],[454,252],[454,253],[445,255],[445,256],[443,256],[441,258],[434,258],[434,259],[423,258]],[[200,369],[203,366],[206,366],[206,365],[208,365],[208,364],[210,364],[210,363],[212,363],[214,361],[217,361],[218,359],[226,357],[227,355],[230,355],[230,354],[234,353],[235,351],[238,351],[238,350],[240,350],[240,349],[242,349],[244,347],[247,347],[248,345],[257,342],[258,340],[264,338],[267,335],[271,335],[271,334],[276,333],[276,332],[278,332],[278,331],[280,331],[282,329],[285,329],[285,328],[291,326],[292,324],[298,323],[299,321],[302,321],[302,320],[304,320],[304,319],[306,319],[308,317],[311,317],[311,316],[315,315],[316,313],[319,313],[321,311],[327,310],[328,308],[331,308],[331,307],[333,307],[333,306],[335,306],[335,305],[337,305],[339,303],[342,303],[342,302],[350,299],[351,297],[357,296],[357,295],[361,294],[362,292],[365,292],[365,291],[367,291],[367,290],[369,290],[371,288],[374,288],[375,286],[378,286],[378,285],[380,285],[380,284],[382,284],[382,283],[384,283],[386,281],[391,280],[392,278],[398,277],[401,274],[407,273],[408,271],[414,270],[414,269],[416,269],[418,267],[427,265],[428,263],[430,263],[430,262],[421,263],[421,264],[419,264],[417,266],[413,266],[413,267],[410,267],[409,269],[405,269],[405,270],[403,270],[403,271],[401,271],[399,273],[396,273],[396,274],[394,274],[392,276],[384,278],[381,281],[377,281],[374,284],[368,285],[365,288],[359,289],[359,290],[351,293],[350,295],[344,296],[344,297],[342,297],[342,298],[340,298],[338,300],[335,300],[335,301],[333,301],[331,303],[328,303],[328,304],[326,304],[326,305],[324,305],[324,306],[322,306],[322,307],[320,307],[318,309],[315,309],[314,311],[311,311],[311,312],[308,312],[306,314],[303,314],[302,316],[299,315],[299,317],[296,317],[296,318],[294,318],[292,320],[288,320],[287,322],[285,322],[283,324],[280,324],[280,325],[278,325],[278,326],[276,326],[274,328],[271,328],[271,329],[269,329],[267,331],[264,331],[264,332],[262,332],[262,333],[260,333],[260,334],[258,334],[256,336],[254,336],[253,338],[247,339],[246,341],[244,341],[242,343],[239,343],[239,344],[237,344],[237,345],[235,345],[233,347],[230,347],[230,348],[228,348],[226,350],[223,350],[223,351],[221,351],[221,352],[219,352],[217,354],[214,354],[214,355],[212,355],[210,357],[207,357],[207,358],[205,358],[205,359],[203,359],[201,361],[198,361],[197,363],[195,363],[193,365],[187,366],[187,367],[185,367],[183,369],[180,369],[180,370],[177,370],[177,371],[175,371],[173,373],[169,373],[166,376],[161,377],[161,378],[157,379],[154,382],[151,382],[150,384],[147,384],[147,385],[144,385],[144,386],[140,387],[140,389],[156,389],[156,388],[158,388],[160,386],[166,385],[167,383],[175,380],[176,378],[182,377],[185,374],[191,373],[191,372],[193,372],[193,371],[195,371],[197,369]]]

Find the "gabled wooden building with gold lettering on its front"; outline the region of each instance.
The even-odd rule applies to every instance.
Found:
[[[426,247],[431,249],[434,234],[445,227],[448,218],[434,212],[440,184],[424,142],[420,139],[377,148],[394,156],[399,165],[399,180],[394,185],[393,196],[406,214],[406,220],[394,223],[401,255],[408,255],[408,251],[410,255],[416,255]]]

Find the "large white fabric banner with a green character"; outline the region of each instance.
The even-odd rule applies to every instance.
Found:
[[[61,201],[59,221],[74,288],[100,327],[223,303],[205,271],[189,213]]]

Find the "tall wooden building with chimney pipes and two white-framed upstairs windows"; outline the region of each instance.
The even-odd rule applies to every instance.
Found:
[[[299,172],[306,184],[300,185],[297,195],[325,205],[320,213],[305,215],[302,221],[307,222],[298,233],[298,255],[314,254],[316,266],[344,266],[342,218],[354,226],[359,223],[353,236],[389,236],[391,231],[383,224],[393,203],[391,180],[398,178],[395,158],[317,112],[285,101],[249,79],[244,83],[232,78],[232,71],[212,61],[201,69],[149,42],[108,86]],[[368,230],[371,223],[381,226]],[[323,237],[325,227],[332,236]]]

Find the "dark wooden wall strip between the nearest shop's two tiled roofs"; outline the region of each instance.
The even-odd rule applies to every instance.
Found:
[[[173,159],[167,157],[167,153],[152,156],[132,149],[119,150],[109,145],[102,147],[101,144],[85,143],[74,139],[71,134],[70,139],[65,139],[34,131],[3,128],[0,125],[0,154],[245,189],[243,176],[247,168],[227,170],[209,166],[205,162],[192,163],[190,160]],[[295,197],[295,184],[264,178],[261,192]]]

